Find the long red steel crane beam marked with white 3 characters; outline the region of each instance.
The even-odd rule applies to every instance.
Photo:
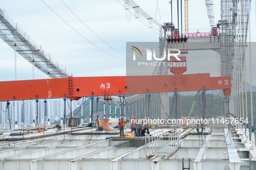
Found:
[[[0,82],[0,101],[107,96],[118,94],[163,93],[223,89],[230,95],[229,77],[210,77],[210,73],[172,76],[68,77]]]

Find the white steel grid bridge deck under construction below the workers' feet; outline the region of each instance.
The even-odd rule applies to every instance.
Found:
[[[210,126],[210,125],[209,125]],[[125,134],[131,129],[127,126]],[[65,132],[64,132],[65,131]],[[0,135],[2,169],[61,170],[246,170],[256,169],[256,150],[244,129],[211,125],[198,134],[195,126],[159,126],[145,137],[119,137],[119,130],[95,127],[48,129],[22,137]],[[23,138],[22,140],[18,140]],[[33,138],[33,139],[32,139]],[[5,139],[5,140],[3,140]],[[250,166],[249,166],[250,165]]]

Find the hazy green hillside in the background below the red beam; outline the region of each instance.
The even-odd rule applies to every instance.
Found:
[[[224,113],[222,113],[222,106],[221,106],[221,100],[220,100],[220,94],[216,94],[215,96],[213,96],[212,94],[206,94],[206,116],[221,116],[224,115]],[[192,104],[194,102],[195,99],[195,95],[180,95],[180,100],[181,100],[181,110],[182,110],[182,115],[183,116],[188,116],[192,107]],[[83,105],[83,118],[87,119],[85,122],[89,122],[89,118],[90,118],[90,107],[89,107],[89,101],[90,100],[86,100],[84,102]],[[169,96],[169,107],[171,110],[172,107],[172,101],[173,101],[173,95]],[[241,99],[242,102],[242,99]],[[144,107],[144,103],[145,101],[143,100],[143,107]],[[140,101],[141,104],[141,101]],[[93,104],[93,120],[96,120],[97,117],[97,102],[94,99],[94,104]],[[117,104],[118,105],[118,104]],[[197,98],[197,102],[194,106],[194,112],[191,114],[191,116],[199,116],[199,110],[200,110],[200,106],[202,108],[202,101],[201,101],[201,96],[200,96],[200,101],[199,101],[199,95]],[[161,104],[158,107],[162,107]],[[247,93],[247,107],[248,107],[248,117],[249,117],[249,121],[250,121],[250,93]],[[241,107],[242,108],[242,107]],[[140,110],[142,110],[141,106],[140,106]],[[147,107],[144,108],[144,114],[145,112],[147,113]],[[124,114],[124,106],[122,103],[122,113]],[[135,104],[134,104],[134,108],[133,108],[133,113],[136,113],[136,108],[135,108]],[[139,115],[139,107],[137,105],[137,113]],[[141,113],[141,111],[140,111]],[[254,113],[254,125],[256,125],[256,92],[253,92],[253,113]],[[81,119],[81,105],[80,107],[76,108],[74,110],[74,116],[78,116]],[[173,106],[172,112],[170,117],[175,117],[175,104]],[[67,115],[70,116],[70,113]],[[108,118],[110,116],[110,106],[109,103],[105,103],[105,116]],[[111,117],[115,116],[115,104],[111,103]],[[117,117],[120,116],[120,112],[118,111],[117,113]],[[126,119],[128,119],[129,114],[128,111],[126,110]],[[132,106],[130,104],[130,116],[132,117]],[[143,115],[144,117],[144,115]],[[103,102],[99,102],[99,119],[103,119],[104,118],[104,104]],[[59,121],[55,121],[54,124],[60,123]]]

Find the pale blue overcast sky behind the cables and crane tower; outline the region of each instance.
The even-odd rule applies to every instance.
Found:
[[[75,76],[125,76],[126,58],[120,53],[126,54],[126,42],[157,42],[159,40],[159,35],[155,31],[143,25],[134,16],[131,15],[130,22],[128,22],[126,11],[116,0],[63,0],[100,38],[120,52],[118,53],[89,31],[61,0],[44,1],[85,38],[108,53],[123,59],[114,58],[88,43],[59,19],[41,0],[2,1],[0,8],[5,9],[30,37],[42,45],[52,57]],[[156,0],[135,0],[135,2],[146,13],[155,18]],[[184,3],[183,0],[182,2]],[[201,32],[209,32],[210,27],[205,1],[193,0],[188,3],[189,32],[196,32],[197,29]],[[184,9],[184,4],[182,6],[182,9]],[[159,0],[159,12],[161,14],[160,23],[171,22],[168,0]],[[174,24],[177,25],[175,10],[173,14]],[[220,0],[214,0],[214,14],[215,22],[217,22],[217,20],[220,20]],[[158,15],[157,18],[159,19]],[[256,28],[255,21],[255,1],[253,1],[252,30]],[[251,41],[256,41],[255,31],[251,32]],[[188,59],[188,73],[210,72],[211,75],[217,76],[216,57],[213,52],[211,54],[211,56],[206,55],[204,61],[197,57]],[[246,68],[248,68],[247,81],[249,82],[249,57],[246,58],[246,62]],[[252,66],[256,66],[255,57],[252,60]],[[255,69],[253,70],[253,72],[256,72]],[[32,65],[20,55],[17,57],[17,79],[32,79]],[[47,79],[47,75],[35,69],[35,79]],[[0,39],[0,81],[10,80],[14,80],[14,51]],[[253,77],[253,85],[256,85],[255,76]]]

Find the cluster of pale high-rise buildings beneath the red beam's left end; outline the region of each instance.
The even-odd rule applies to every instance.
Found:
[[[13,101],[10,101],[10,120],[11,124],[14,125],[14,106]],[[8,111],[6,108],[7,102],[0,102],[0,124],[9,124]],[[17,105],[17,123],[32,126],[33,123],[33,105],[35,105],[35,121],[36,121],[36,100],[28,101],[16,101]],[[72,101],[72,109],[75,110],[78,107],[78,101]],[[70,100],[66,101],[66,114],[68,115],[71,110]],[[50,117],[50,123],[55,120],[59,120],[64,114],[64,101],[63,99],[47,99],[46,102],[46,117],[45,117],[45,102],[39,100],[38,102],[38,123],[48,123],[48,115]],[[45,118],[45,119],[44,119]],[[10,126],[6,126],[10,128]]]

